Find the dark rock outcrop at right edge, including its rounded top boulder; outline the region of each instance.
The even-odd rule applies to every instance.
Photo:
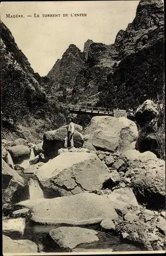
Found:
[[[138,106],[135,120],[139,132],[135,148],[139,152],[151,151],[158,158],[165,159],[164,116],[164,104],[155,104],[151,100],[146,100]]]

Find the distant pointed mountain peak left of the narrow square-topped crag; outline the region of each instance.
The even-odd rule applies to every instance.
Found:
[[[62,101],[72,93],[78,71],[85,63],[84,53],[75,45],[69,45],[68,49],[58,59],[47,77],[52,81],[52,89],[62,95]]]

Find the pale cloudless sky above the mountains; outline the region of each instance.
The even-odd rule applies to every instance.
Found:
[[[70,44],[81,51],[88,39],[112,44],[118,31],[126,30],[132,23],[138,3],[136,0],[1,2],[1,20],[34,71],[45,76]],[[86,15],[74,16],[77,13]],[[16,14],[23,17],[14,18]]]

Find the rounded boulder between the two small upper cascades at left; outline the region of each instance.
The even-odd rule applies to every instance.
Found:
[[[11,146],[8,148],[8,151],[15,164],[30,158],[30,155],[31,155],[30,148],[25,145]]]

